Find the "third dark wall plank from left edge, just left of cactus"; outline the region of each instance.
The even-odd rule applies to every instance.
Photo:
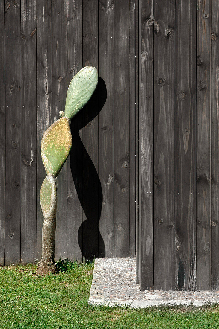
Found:
[[[21,264],[36,259],[36,1],[21,0]]]

